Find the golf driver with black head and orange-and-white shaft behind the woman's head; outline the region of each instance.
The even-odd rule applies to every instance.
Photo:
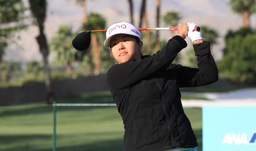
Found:
[[[157,28],[138,28],[139,31],[160,31],[160,30],[169,30],[169,31],[177,31],[178,27],[157,27]],[[77,34],[72,40],[72,45],[76,50],[83,51],[87,50],[90,46],[91,42],[91,32],[104,32],[103,30],[93,30],[93,31],[83,31]],[[200,31],[200,27],[196,26],[194,31]]]

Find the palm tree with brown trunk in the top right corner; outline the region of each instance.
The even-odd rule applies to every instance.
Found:
[[[254,0],[230,0],[232,10],[242,16],[242,26],[250,28],[250,16],[255,11]]]

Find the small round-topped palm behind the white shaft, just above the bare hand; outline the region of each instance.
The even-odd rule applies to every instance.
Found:
[[[180,14],[176,11],[169,11],[163,16],[163,22],[169,27],[177,26],[180,19]],[[171,31],[171,38],[173,36],[175,36],[174,31]]]

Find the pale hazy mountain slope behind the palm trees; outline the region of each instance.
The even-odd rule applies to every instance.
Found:
[[[87,1],[88,12],[102,14],[106,18],[108,26],[114,22],[130,21],[128,0]],[[24,0],[24,2],[28,5],[27,0]],[[135,25],[139,24],[140,3],[141,0],[134,0]],[[150,27],[156,27],[155,4],[156,0],[148,0],[147,2]],[[241,27],[241,17],[231,11],[228,0],[198,0],[196,3],[195,0],[161,0],[160,14],[163,15],[166,11],[171,10],[180,12],[182,16],[181,23],[195,22],[198,25],[208,25],[218,31],[220,35],[220,38],[217,40],[218,45],[214,45],[212,48],[212,53],[216,60],[222,57],[221,50],[224,47],[223,36],[227,30]],[[76,5],[75,0],[48,0],[48,14],[45,23],[45,34],[47,35],[48,42],[60,25],[73,26],[74,30],[79,28],[82,15],[82,6]],[[255,18],[255,15],[251,17],[253,27],[256,26]],[[160,27],[165,27],[163,22],[160,23]],[[17,41],[17,44],[10,45],[6,49],[4,59],[17,60],[23,63],[33,59],[41,61],[41,54],[35,40],[35,37],[38,35],[38,28],[30,26],[27,30],[18,32],[17,35],[20,36],[20,40]],[[167,41],[170,38],[169,31],[160,31],[160,38]],[[181,52],[182,54],[192,46],[189,38],[186,38],[186,41],[189,45]],[[53,56],[54,54],[49,56],[50,62],[52,62]]]

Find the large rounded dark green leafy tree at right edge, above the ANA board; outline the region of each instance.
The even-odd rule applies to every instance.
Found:
[[[224,57],[218,62],[221,76],[232,81],[256,84],[256,33],[241,28],[225,36]]]

